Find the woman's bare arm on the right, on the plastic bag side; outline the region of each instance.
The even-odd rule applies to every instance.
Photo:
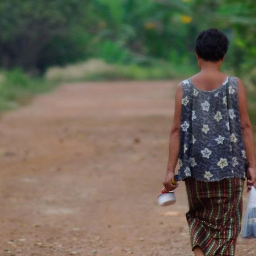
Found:
[[[253,129],[247,111],[245,85],[243,84],[243,81],[241,79],[238,79],[238,104],[240,109],[243,142],[245,144],[246,158],[249,164],[247,168],[247,187],[250,189],[251,185],[254,185],[254,187],[256,187],[255,147],[253,139]]]

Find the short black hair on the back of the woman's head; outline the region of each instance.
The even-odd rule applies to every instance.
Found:
[[[229,39],[217,28],[203,30],[197,35],[194,50],[205,61],[221,60],[228,51]]]

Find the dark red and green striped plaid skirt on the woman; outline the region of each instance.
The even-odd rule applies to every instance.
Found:
[[[243,186],[244,180],[236,177],[212,182],[185,179],[192,250],[200,246],[205,256],[234,255],[241,231]]]

